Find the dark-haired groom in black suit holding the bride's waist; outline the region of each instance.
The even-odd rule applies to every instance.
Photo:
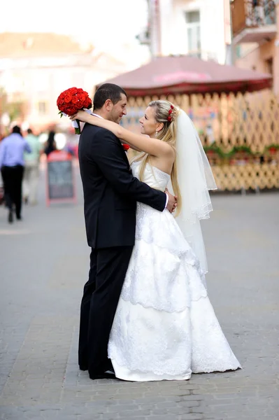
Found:
[[[105,83],[94,95],[94,115],[120,123],[127,94]],[[173,210],[176,198],[134,178],[120,140],[85,124],[78,146],[83,181],[89,279],[80,307],[78,363],[91,379],[113,377],[108,339],[135,241],[136,202]]]

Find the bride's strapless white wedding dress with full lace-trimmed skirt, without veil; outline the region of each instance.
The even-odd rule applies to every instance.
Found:
[[[141,162],[131,165],[138,178]],[[143,181],[164,191],[170,176],[146,165]],[[136,242],[108,344],[116,377],[189,379],[192,372],[236,370],[201,281],[199,261],[176,219],[137,204]]]

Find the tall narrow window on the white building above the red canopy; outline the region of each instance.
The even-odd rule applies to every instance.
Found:
[[[186,12],[187,52],[201,57],[201,20],[199,10]]]

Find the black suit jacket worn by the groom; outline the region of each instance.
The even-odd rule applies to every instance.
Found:
[[[134,178],[120,140],[108,130],[85,124],[78,158],[88,245],[133,246],[136,202],[163,211],[166,194]]]

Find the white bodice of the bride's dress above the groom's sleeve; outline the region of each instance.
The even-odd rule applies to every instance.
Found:
[[[133,162],[131,164],[131,170],[133,175],[139,179],[139,173],[141,170],[141,161]],[[161,171],[157,167],[146,164],[145,171],[143,174],[143,182],[147,183],[151,188],[156,188],[156,190],[164,191],[166,186],[169,183],[171,176],[166,174],[166,172]]]

